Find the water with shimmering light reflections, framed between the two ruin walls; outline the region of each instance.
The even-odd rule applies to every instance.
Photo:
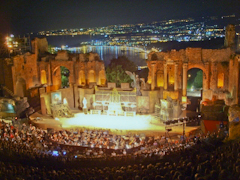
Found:
[[[118,56],[126,56],[138,66],[145,66],[148,52],[138,47],[127,46],[82,46],[68,48],[73,53],[98,53],[100,59],[104,61],[105,65],[110,63],[110,60]]]

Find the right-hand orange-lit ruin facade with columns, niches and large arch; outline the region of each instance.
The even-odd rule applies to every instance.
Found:
[[[224,99],[227,104],[238,103],[240,56],[230,48],[187,48],[148,55],[148,83],[151,90],[160,89],[161,98],[186,101],[188,70],[203,71],[203,99]]]

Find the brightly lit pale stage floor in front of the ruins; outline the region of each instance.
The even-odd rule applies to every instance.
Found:
[[[38,114],[39,116],[40,114]],[[35,115],[36,118],[36,115]],[[159,118],[153,115],[136,115],[136,116],[108,116],[108,115],[92,115],[84,113],[74,113],[73,118],[59,118],[59,120],[45,119],[41,117],[41,121],[35,121],[33,116],[32,123],[36,126],[44,124],[45,128],[59,129],[107,129],[113,133],[145,133],[147,135],[162,135],[165,134],[165,125],[160,122]],[[43,127],[43,126],[41,126]],[[185,132],[195,131],[199,126],[186,127]],[[181,135],[183,133],[183,126],[171,127],[170,134]]]

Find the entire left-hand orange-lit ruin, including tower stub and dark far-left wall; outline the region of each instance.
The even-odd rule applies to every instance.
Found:
[[[78,87],[105,86],[105,67],[98,54],[59,51],[53,55],[47,50],[46,38],[35,38],[32,41],[31,53],[6,59],[2,84],[14,95],[28,97],[32,106],[45,107],[44,109],[48,106],[48,99],[42,100],[46,93],[62,91],[62,96],[69,102],[70,108],[75,108],[79,106],[78,100],[74,99],[77,98],[75,94]],[[69,71],[68,88],[62,87],[61,67]]]

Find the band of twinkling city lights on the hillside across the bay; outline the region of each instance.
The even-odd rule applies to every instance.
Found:
[[[194,20],[192,18],[187,19],[171,19],[153,23],[142,24],[122,24],[111,25],[95,28],[76,28],[76,29],[60,29],[50,31],[40,31],[39,35],[46,36],[63,36],[63,35],[92,35],[103,36],[102,40],[99,40],[96,45],[145,45],[156,42],[168,42],[168,41],[203,41],[208,38],[224,37],[224,29],[218,24],[207,25],[206,22],[214,20],[216,17],[207,17],[202,21]],[[220,20],[220,19],[219,19]],[[186,23],[185,26],[179,26],[179,23]],[[213,22],[215,23],[215,22]],[[171,26],[169,26],[171,24]],[[140,27],[139,27],[140,26]],[[167,30],[167,32],[166,32]],[[131,32],[131,36],[121,36],[122,34],[128,34]],[[142,33],[150,33],[148,35]],[[119,36],[118,36],[119,34]],[[111,36],[113,35],[113,36]],[[87,42],[87,44],[94,45],[95,41]]]

